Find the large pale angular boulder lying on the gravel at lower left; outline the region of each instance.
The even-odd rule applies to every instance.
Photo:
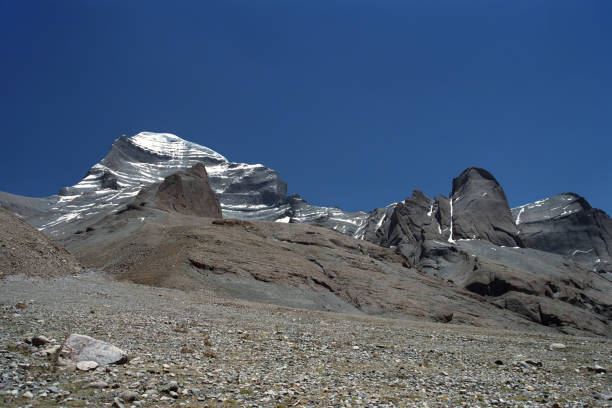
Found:
[[[95,361],[99,365],[126,363],[127,353],[112,344],[82,334],[68,336],[60,351],[68,362]]]

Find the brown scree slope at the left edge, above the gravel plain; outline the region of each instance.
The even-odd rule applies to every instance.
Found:
[[[57,277],[73,275],[81,269],[64,247],[0,208],[0,278],[9,275]]]

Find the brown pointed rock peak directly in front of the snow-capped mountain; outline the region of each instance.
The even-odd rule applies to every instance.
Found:
[[[132,208],[153,207],[200,217],[222,218],[221,206],[210,187],[206,167],[198,163],[143,189]]]

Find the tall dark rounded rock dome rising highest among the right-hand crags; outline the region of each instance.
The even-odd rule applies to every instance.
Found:
[[[521,246],[506,194],[488,171],[470,167],[453,179],[451,241],[484,239],[495,245]]]

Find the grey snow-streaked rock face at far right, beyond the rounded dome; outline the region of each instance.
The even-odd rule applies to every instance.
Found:
[[[574,193],[513,208],[526,247],[572,258],[612,274],[612,219]]]

